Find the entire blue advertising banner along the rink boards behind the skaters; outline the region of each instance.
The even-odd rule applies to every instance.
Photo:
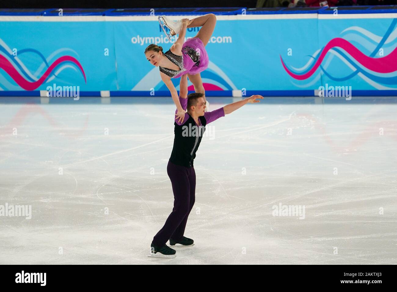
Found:
[[[218,15],[205,47],[209,65],[200,73],[204,88],[220,96],[317,95],[325,86],[393,93],[396,16]],[[149,44],[166,52],[176,40],[168,41],[157,16],[0,16],[0,31],[0,92],[56,83],[80,91],[168,95],[159,68],[144,54]],[[186,39],[197,32],[187,29]],[[179,90],[179,78],[172,81]]]

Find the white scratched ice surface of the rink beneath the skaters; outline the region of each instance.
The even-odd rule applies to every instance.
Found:
[[[395,101],[265,97],[209,124],[195,246],[153,259],[173,207],[171,98],[15,99],[0,99],[0,205],[32,213],[0,217],[1,264],[397,264]]]

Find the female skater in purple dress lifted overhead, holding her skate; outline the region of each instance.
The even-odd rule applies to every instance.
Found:
[[[179,37],[171,46],[170,50],[165,53],[161,46],[150,44],[145,49],[145,56],[150,64],[160,68],[161,79],[170,90],[172,100],[175,102],[177,107],[177,114],[175,114],[177,117],[175,120],[179,119],[179,122],[183,122],[186,111],[182,108],[181,103],[179,102],[179,96],[171,78],[179,78],[182,75],[187,74],[187,77],[189,77],[189,80],[193,83],[195,92],[204,94],[204,101],[208,107],[200,72],[204,71],[208,67],[208,54],[205,50],[205,46],[214,31],[216,16],[211,13],[191,20],[184,18],[182,21],[179,21],[181,22],[181,26],[179,27],[177,21],[170,21],[166,16],[162,16],[161,18],[167,21],[168,27],[174,28],[171,31],[173,35],[178,33],[180,27]],[[201,29],[195,37],[183,42],[187,27],[201,27]]]

